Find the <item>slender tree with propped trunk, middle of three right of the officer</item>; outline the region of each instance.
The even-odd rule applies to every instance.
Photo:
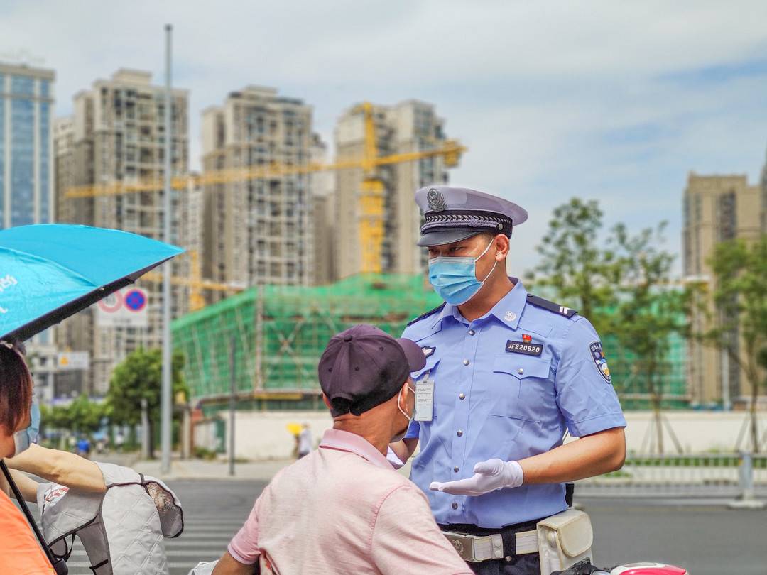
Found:
[[[666,222],[630,235],[623,224],[611,232],[608,245],[614,261],[608,275],[617,290],[617,306],[611,316],[611,334],[621,353],[634,355],[634,373],[647,383],[657,449],[663,453],[663,375],[668,373],[669,340],[673,334],[686,337],[690,290],[671,285],[675,256],[660,246]],[[652,429],[651,427],[651,429]],[[667,425],[677,451],[682,447]],[[648,431],[650,433],[651,431]]]

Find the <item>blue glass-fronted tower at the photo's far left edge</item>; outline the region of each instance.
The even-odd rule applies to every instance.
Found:
[[[54,77],[0,64],[0,228],[54,221]]]

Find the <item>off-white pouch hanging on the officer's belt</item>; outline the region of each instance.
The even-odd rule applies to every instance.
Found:
[[[594,561],[591,544],[594,531],[591,518],[584,511],[567,509],[538,521],[538,548],[541,554],[541,575],[564,570],[586,558]]]

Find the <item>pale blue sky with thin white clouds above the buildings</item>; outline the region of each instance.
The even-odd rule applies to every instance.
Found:
[[[248,84],[314,107],[314,129],[361,100],[433,103],[469,147],[450,181],[530,218],[512,270],[535,265],[551,211],[598,199],[607,226],[669,222],[680,251],[690,171],[759,181],[767,149],[767,2],[158,2],[5,0],[0,59],[26,51],[57,74],[57,113],[119,67],[190,90],[199,113]]]

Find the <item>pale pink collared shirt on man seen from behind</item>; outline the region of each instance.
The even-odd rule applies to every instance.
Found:
[[[229,554],[246,565],[263,556],[279,575],[472,575],[423,492],[360,435],[337,429],[275,475]]]

